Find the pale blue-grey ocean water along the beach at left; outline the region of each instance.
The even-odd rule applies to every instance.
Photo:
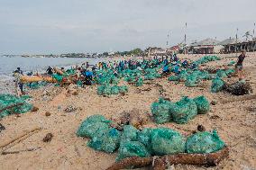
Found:
[[[89,62],[95,65],[99,61],[109,58],[23,58],[21,56],[0,56],[0,94],[12,93],[14,91],[13,72],[21,67],[23,72],[44,72],[47,67],[71,67],[76,64]]]

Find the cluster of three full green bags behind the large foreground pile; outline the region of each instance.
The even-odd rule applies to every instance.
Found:
[[[160,98],[158,103],[151,104],[154,121],[158,124],[174,121],[178,124],[187,123],[197,116],[206,114],[210,110],[210,103],[205,96],[190,99],[183,97],[177,103],[172,103]]]

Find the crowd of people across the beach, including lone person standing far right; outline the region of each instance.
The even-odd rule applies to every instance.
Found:
[[[242,80],[244,78],[244,73],[242,70],[243,66],[243,60],[245,58],[246,51],[242,50],[241,55],[238,57],[235,69],[237,72],[237,75],[239,77],[239,80]],[[114,60],[114,61],[108,61],[108,62],[99,62],[96,65],[89,65],[88,62],[83,63],[80,67],[72,67],[72,69],[75,70],[76,74],[75,81],[81,81],[82,85],[92,85],[92,81],[94,79],[94,76],[96,76],[97,70],[102,69],[113,69],[114,74],[117,75],[120,71],[123,71],[124,69],[139,69],[142,70],[146,68],[153,68],[158,67],[160,64],[163,64],[162,67],[162,73],[169,74],[171,71],[178,74],[180,72],[180,67],[189,67],[191,69],[195,69],[197,66],[195,66],[194,63],[189,63],[186,59],[181,61],[181,64],[178,64],[178,56],[176,54],[172,56],[157,58],[154,57],[152,60]],[[171,66],[171,69],[170,67]],[[60,68],[60,71],[65,73],[67,70],[65,70],[64,67]],[[53,67],[48,67],[46,69],[46,74],[49,76],[52,76],[53,74],[56,74],[56,71]],[[58,73],[57,73],[58,74]],[[16,70],[14,70],[14,77],[15,77],[15,86],[17,90],[18,95],[24,94],[23,91],[23,82],[21,82],[21,76],[23,76],[23,71],[20,67],[17,67]],[[27,76],[32,76],[32,72],[27,73]]]

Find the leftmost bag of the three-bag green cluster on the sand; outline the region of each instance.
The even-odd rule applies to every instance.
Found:
[[[172,103],[165,101],[163,98],[160,98],[159,103],[152,103],[151,112],[156,123],[163,124],[171,121],[171,114],[169,112],[171,105]]]

